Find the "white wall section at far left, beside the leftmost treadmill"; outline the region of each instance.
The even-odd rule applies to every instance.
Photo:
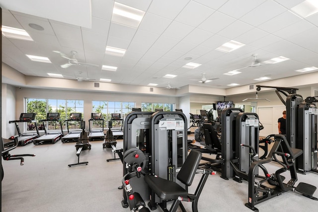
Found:
[[[2,83],[1,89],[1,134],[2,138],[8,139],[10,136],[17,134],[15,125],[9,124],[10,120],[16,120],[19,118],[15,114],[15,87]]]

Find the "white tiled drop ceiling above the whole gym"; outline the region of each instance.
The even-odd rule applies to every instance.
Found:
[[[291,12],[303,0],[55,0],[52,5],[43,0],[16,1],[0,0],[2,25],[24,29],[34,41],[2,35],[2,62],[24,75],[229,88],[231,83],[254,84],[259,82],[255,78],[285,78],[307,73],[295,70],[318,67],[318,13],[302,18]],[[112,21],[115,2],[145,12],[138,27]],[[231,40],[245,45],[229,53],[216,50]],[[126,53],[105,54],[106,46]],[[68,60],[53,51],[66,57],[76,51],[79,62],[97,66],[63,69],[60,66]],[[26,55],[47,57],[52,64],[33,62]],[[260,62],[280,56],[290,60],[241,69],[254,62],[252,55]],[[202,65],[183,67],[190,62]],[[102,70],[103,65],[117,70]],[[240,74],[224,74],[238,69]],[[214,80],[199,82],[203,73]]]

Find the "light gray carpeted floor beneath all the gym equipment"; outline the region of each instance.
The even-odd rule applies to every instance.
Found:
[[[117,189],[121,185],[121,161],[106,162],[106,159],[114,156],[111,149],[103,149],[103,141],[90,143],[91,150],[80,154],[80,161],[88,161],[88,165],[74,167],[68,167],[68,164],[76,163],[78,159],[74,142],[31,143],[12,150],[11,154],[34,153],[36,157],[25,157],[23,166],[17,160],[2,159],[2,212],[129,212],[129,209],[122,208],[122,190]],[[122,140],[119,140],[117,147],[121,146]],[[275,170],[275,166],[273,164],[271,168]],[[298,182],[318,187],[317,173],[299,174],[298,177]],[[201,174],[195,176],[190,192],[194,192],[200,178]],[[237,183],[232,179],[224,180],[220,174],[209,176],[199,199],[198,210],[250,212],[244,206],[247,188],[246,181]],[[314,196],[318,197],[318,191]],[[184,203],[184,206],[191,211],[191,203]],[[313,212],[318,209],[318,201],[296,192],[287,192],[256,207],[261,212]]]

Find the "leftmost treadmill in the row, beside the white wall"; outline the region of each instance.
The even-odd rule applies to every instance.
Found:
[[[36,116],[36,113],[21,113],[19,120],[9,121],[9,123],[14,123],[15,124],[16,130],[18,132],[18,135],[17,135],[18,144],[24,146],[24,145],[32,142],[33,139],[36,139],[36,138],[40,137],[39,129],[38,129],[38,126],[37,126],[36,120],[35,120],[35,116]],[[35,129],[36,129],[36,133],[22,133],[21,134],[21,131],[20,131],[20,128],[19,128],[19,125],[18,125],[18,123],[21,123],[21,122],[22,123],[24,123],[24,122],[31,123],[32,125],[34,124],[35,125]],[[29,126],[31,127],[31,125],[28,125],[28,127]],[[5,147],[13,145],[14,144],[14,139],[11,139],[11,138],[15,138],[15,137],[16,136],[10,137],[11,141],[6,142],[5,143]]]

